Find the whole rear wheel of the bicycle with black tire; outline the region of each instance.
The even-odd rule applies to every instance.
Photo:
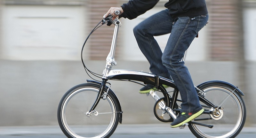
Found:
[[[241,95],[232,86],[218,82],[202,85],[199,89],[206,93],[205,98],[208,101],[216,106],[223,107],[223,109],[220,109],[220,115],[202,114],[192,120],[198,123],[213,125],[212,128],[189,123],[190,131],[197,138],[236,137],[244,127],[246,119],[246,108]],[[214,111],[212,107],[207,107],[201,100],[200,104],[206,110]]]

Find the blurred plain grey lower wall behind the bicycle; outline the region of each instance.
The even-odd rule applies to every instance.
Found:
[[[86,61],[89,69],[101,73],[105,61]],[[119,61],[118,69],[148,72],[143,61]],[[209,80],[228,81],[238,87],[238,64],[235,62],[187,62],[195,85]],[[246,66],[246,89],[242,89],[247,106],[246,125],[256,123],[253,118],[256,104],[254,92],[256,63]],[[80,61],[9,61],[0,60],[0,126],[57,125],[60,98],[73,86],[90,79]],[[154,100],[141,95],[140,85],[132,82],[111,81],[111,89],[118,96],[123,123],[160,123],[153,114]]]

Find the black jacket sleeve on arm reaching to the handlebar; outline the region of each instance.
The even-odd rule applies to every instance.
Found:
[[[158,1],[159,0],[130,0],[128,3],[121,6],[124,12],[119,18],[135,19],[139,15],[152,9]]]

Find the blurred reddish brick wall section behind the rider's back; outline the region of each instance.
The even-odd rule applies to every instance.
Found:
[[[242,37],[239,0],[212,0],[209,3],[210,58],[216,61],[235,61],[239,58],[237,55]]]

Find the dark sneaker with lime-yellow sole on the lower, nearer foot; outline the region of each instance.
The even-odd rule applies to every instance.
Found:
[[[196,113],[185,113],[182,112],[170,125],[171,127],[180,127],[181,125],[188,123],[189,121],[195,119],[196,117],[200,116],[204,112],[204,109]]]

